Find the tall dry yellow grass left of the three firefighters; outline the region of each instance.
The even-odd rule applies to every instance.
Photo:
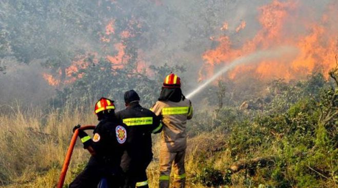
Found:
[[[92,113],[81,109],[21,111],[0,115],[0,185],[6,187],[53,187],[77,123],[95,124]],[[81,145],[74,151],[71,167],[87,160]],[[68,174],[70,175],[70,173]],[[69,176],[67,176],[69,177]],[[69,178],[66,182],[69,182]]]

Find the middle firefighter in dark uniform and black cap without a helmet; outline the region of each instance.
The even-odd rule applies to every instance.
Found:
[[[160,119],[153,112],[142,108],[140,97],[134,90],[124,95],[126,109],[117,112],[116,118],[128,126],[127,152],[121,166],[126,173],[125,187],[148,187],[146,169],[152,160],[151,133],[162,131]]]

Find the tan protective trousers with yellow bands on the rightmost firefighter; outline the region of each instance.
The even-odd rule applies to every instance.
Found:
[[[179,152],[160,151],[160,188],[169,188],[171,166],[173,165],[174,188],[185,187],[185,150]]]

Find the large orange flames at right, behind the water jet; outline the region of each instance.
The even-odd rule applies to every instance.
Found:
[[[261,25],[261,29],[243,44],[233,44],[232,38],[227,35],[212,38],[218,42],[218,46],[202,55],[205,62],[199,79],[210,77],[217,65],[229,64],[235,58],[256,50],[284,45],[298,48],[299,54],[291,60],[283,57],[278,60],[262,61],[257,65],[240,66],[232,70],[228,76],[235,79],[243,73],[252,73],[261,79],[290,80],[305,77],[313,71],[320,71],[319,69],[328,72],[335,66],[337,44],[334,38],[337,37],[338,31],[338,9],[331,3],[319,22],[315,22],[298,14],[302,7],[299,1],[291,0],[283,2],[274,0],[259,7],[257,22]],[[236,28],[236,32],[245,27],[246,22],[243,20]],[[222,28],[227,28],[227,25]],[[290,28],[292,31],[289,31]]]

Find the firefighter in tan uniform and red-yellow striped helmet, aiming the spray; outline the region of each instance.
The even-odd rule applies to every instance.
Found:
[[[173,165],[173,187],[185,187],[184,168],[187,147],[186,124],[192,118],[192,106],[181,90],[181,79],[175,74],[166,76],[160,98],[151,108],[157,116],[163,116],[160,149],[160,188],[169,187]]]

